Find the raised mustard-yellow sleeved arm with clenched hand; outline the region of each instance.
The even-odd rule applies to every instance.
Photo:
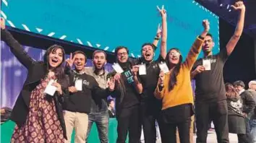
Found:
[[[186,61],[184,62],[185,66],[187,66],[189,70],[191,70],[192,66],[195,64],[195,61],[197,60],[197,57],[202,49],[202,43],[204,42],[204,38],[210,30],[210,23],[208,22],[208,20],[203,20],[202,26],[204,27],[204,30],[193,43],[192,48],[187,55]]]

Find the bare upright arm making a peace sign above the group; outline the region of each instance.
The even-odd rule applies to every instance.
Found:
[[[158,11],[161,14],[162,17],[162,40],[161,40],[161,49],[160,49],[160,54],[163,59],[166,58],[166,46],[167,46],[167,20],[166,20],[166,9],[163,8],[160,9],[158,6]]]

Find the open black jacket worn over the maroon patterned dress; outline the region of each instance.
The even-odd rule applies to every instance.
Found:
[[[27,52],[25,52],[22,48],[22,45],[20,45],[20,43],[18,43],[7,30],[1,30],[1,39],[4,40],[7,45],[9,45],[14,56],[27,69],[27,79],[22,86],[20,95],[17,97],[14,108],[12,109],[12,115],[10,117],[10,119],[17,123],[17,126],[20,127],[25,123],[30,110],[31,92],[38,84],[40,84],[40,79],[43,79],[47,75],[47,65],[43,61],[35,61],[33,58],[28,56]],[[58,81],[63,89],[67,88],[69,84],[68,79],[58,79]],[[64,90],[63,96],[66,96],[65,94],[66,92]],[[56,105],[56,112],[58,114],[61,127],[64,131],[64,137],[67,139],[66,126],[61,105],[63,96],[59,95],[58,92],[55,92],[54,96],[51,97],[53,97]]]

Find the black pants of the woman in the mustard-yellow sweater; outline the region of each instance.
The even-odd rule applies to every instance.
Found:
[[[179,140],[181,143],[189,143],[190,123],[191,117],[179,123],[165,123],[160,119],[158,122],[161,126],[161,142],[162,143],[176,143],[176,129],[179,130]]]

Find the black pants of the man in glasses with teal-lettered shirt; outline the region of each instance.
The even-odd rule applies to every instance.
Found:
[[[125,143],[129,131],[129,142],[139,143],[141,134],[139,105],[122,108],[117,119],[117,143]]]

